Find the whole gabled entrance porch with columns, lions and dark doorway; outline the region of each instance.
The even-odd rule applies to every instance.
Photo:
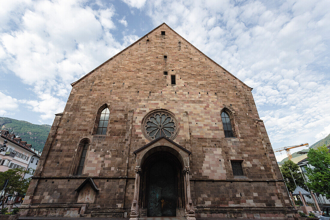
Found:
[[[189,183],[191,152],[162,136],[133,153],[136,174],[130,220],[146,215],[196,220]]]

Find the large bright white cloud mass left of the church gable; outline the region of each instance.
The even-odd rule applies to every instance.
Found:
[[[41,114],[43,123],[63,111],[70,83],[138,38],[124,35],[119,43],[112,34],[115,8],[93,4],[98,5],[84,0],[22,1],[0,9],[0,18],[5,18],[0,21],[2,66],[33,88],[37,98],[24,103]]]

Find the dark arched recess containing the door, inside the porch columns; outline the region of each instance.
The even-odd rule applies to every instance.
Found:
[[[176,216],[177,209],[184,209],[182,165],[173,154],[151,154],[142,170],[141,202],[148,216]]]

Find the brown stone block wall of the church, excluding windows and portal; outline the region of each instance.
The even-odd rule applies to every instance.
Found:
[[[176,75],[176,85],[171,85],[171,75]],[[154,109],[167,109],[179,120],[173,141],[192,152],[190,184],[197,209],[291,207],[251,88],[166,24],[72,86],[64,112],[55,117],[22,209],[38,202],[75,203],[74,190],[86,177],[100,189],[89,208],[129,209],[133,151],[149,143],[141,122]],[[95,135],[97,113],[105,104],[110,110],[107,133]],[[224,136],[224,108],[233,115],[235,138]],[[75,177],[70,170],[84,138],[90,140],[84,176]],[[231,160],[243,161],[244,180],[233,176]]]

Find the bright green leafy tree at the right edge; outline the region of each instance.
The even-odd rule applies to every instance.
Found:
[[[308,163],[314,168],[307,168],[308,186],[315,193],[330,199],[330,154],[325,146],[310,149],[307,154]]]

